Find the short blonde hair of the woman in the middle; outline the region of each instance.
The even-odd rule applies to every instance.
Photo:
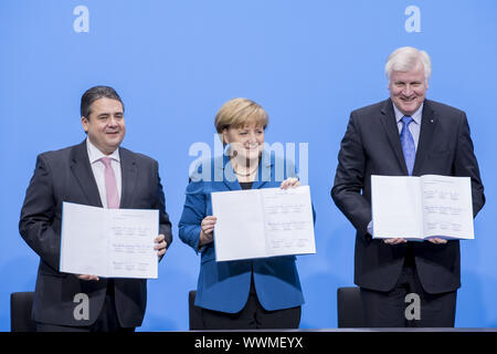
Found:
[[[214,119],[214,126],[221,140],[223,140],[224,129],[230,127],[241,128],[251,123],[255,123],[256,126],[262,126],[265,129],[269,118],[266,111],[257,103],[242,97],[232,98],[224,103]]]

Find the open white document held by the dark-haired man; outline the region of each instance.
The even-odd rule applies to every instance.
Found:
[[[62,206],[61,272],[157,278],[159,211]]]

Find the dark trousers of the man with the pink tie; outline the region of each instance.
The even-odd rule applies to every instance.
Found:
[[[67,326],[36,322],[36,332],[134,332],[135,327],[121,327],[117,319],[116,303],[114,300],[114,282],[107,281],[107,292],[101,314],[95,323],[89,326]]]

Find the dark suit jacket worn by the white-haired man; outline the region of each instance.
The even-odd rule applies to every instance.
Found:
[[[425,100],[412,175],[427,174],[470,177],[474,216],[484,206],[484,188],[465,113]],[[368,233],[371,175],[408,175],[391,100],[351,113],[331,189],[335,204],[357,229],[356,284],[389,291],[400,277],[408,244],[389,246],[382,240],[372,240]],[[412,242],[412,248],[426,292],[442,293],[461,287],[458,241]]]

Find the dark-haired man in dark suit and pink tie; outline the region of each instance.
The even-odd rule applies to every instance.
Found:
[[[123,102],[114,88],[86,91],[81,112],[86,139],[38,156],[21,210],[20,233],[40,256],[32,315],[38,331],[134,331],[145,314],[145,279],[59,271],[62,204],[158,209],[160,235],[155,249],[161,259],[172,233],[158,163],[120,147],[126,125]],[[87,316],[75,315],[81,299],[87,299]]]

